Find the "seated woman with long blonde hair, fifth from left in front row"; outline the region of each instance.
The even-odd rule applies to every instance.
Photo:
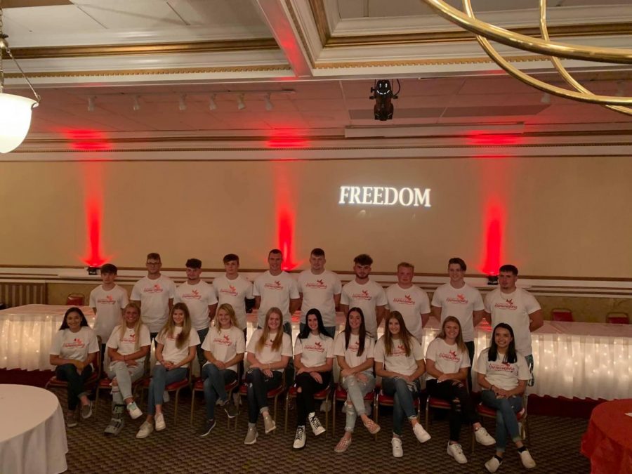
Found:
[[[246,372],[248,386],[248,432],[245,445],[257,442],[257,419],[263,416],[263,427],[268,434],[275,430],[275,421],[268,409],[268,392],[281,386],[283,371],[292,357],[291,337],[283,332],[283,313],[270,308],[265,314],[263,328],[254,331],[246,348],[250,364]]]

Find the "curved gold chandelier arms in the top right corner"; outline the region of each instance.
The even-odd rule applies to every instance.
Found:
[[[515,77],[528,86],[532,86],[541,91],[551,93],[555,96],[564,97],[580,102],[600,104],[610,110],[632,115],[632,108],[625,107],[632,105],[632,97],[600,96],[593,94],[587,88],[579,84],[572,75],[562,65],[560,58],[577,59],[593,62],[612,62],[617,64],[632,64],[632,49],[620,48],[599,48],[595,46],[584,46],[551,41],[548,37],[546,25],[546,0],[540,0],[540,36],[541,38],[529,37],[524,34],[511,32],[508,29],[490,25],[487,22],[478,20],[475,17],[470,0],[463,0],[463,11],[460,11],[445,3],[444,0],[421,0],[430,8],[433,8],[443,18],[467,29],[476,35],[478,44],[492,58],[499,67],[508,74]],[[574,88],[573,90],[553,86],[547,82],[535,79],[529,74],[522,72],[517,67],[511,65],[496,49],[489,43],[489,40],[497,41],[506,46],[530,51],[540,55],[546,55],[553,63],[553,67],[560,73],[560,76]]]

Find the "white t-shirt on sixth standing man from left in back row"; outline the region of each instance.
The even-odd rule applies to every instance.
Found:
[[[322,324],[327,327],[336,326],[334,295],[342,291],[338,275],[329,270],[324,270],[320,275],[314,275],[312,270],[305,270],[298,275],[298,291],[303,294],[301,322],[305,322],[305,315],[309,310],[316,308],[322,315]]]

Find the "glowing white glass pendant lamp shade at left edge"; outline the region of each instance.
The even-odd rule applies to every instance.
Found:
[[[0,153],[15,150],[25,139],[31,125],[31,110],[37,100],[0,93]]]

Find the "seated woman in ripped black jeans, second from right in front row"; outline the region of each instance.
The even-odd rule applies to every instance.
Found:
[[[450,403],[447,454],[461,464],[468,462],[459,444],[463,417],[472,426],[474,437],[481,445],[490,446],[496,442],[481,426],[468,393],[468,367],[470,356],[461,335],[461,323],[456,317],[448,316],[443,320],[440,333],[426,350],[426,390],[431,397]]]

